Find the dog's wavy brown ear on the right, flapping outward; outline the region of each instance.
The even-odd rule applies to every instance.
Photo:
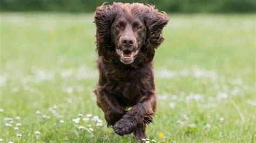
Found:
[[[147,24],[149,29],[150,45],[157,48],[163,41],[162,31],[164,26],[169,22],[169,18],[165,12],[158,12],[158,10],[153,6],[149,6],[150,11],[147,13]]]

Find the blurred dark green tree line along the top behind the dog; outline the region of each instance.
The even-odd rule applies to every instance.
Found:
[[[94,12],[106,0],[0,0],[0,11]],[[256,12],[256,0],[121,0],[156,5],[166,12]]]

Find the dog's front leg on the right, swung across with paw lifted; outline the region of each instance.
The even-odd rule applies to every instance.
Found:
[[[145,138],[145,125],[153,121],[156,112],[156,96],[145,96],[131,110],[127,111],[122,119],[117,121],[113,129],[119,135],[134,132],[136,139]]]

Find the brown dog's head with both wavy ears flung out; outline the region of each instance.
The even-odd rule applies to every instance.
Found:
[[[164,41],[166,13],[140,3],[102,5],[96,9],[97,51],[106,61],[150,62],[154,50]]]

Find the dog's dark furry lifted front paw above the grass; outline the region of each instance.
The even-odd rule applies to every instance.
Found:
[[[136,127],[136,125],[134,124],[133,121],[126,119],[126,118],[122,118],[119,121],[117,121],[116,124],[114,124],[113,130],[118,135],[123,136],[125,134],[132,133],[134,131],[135,127]]]

